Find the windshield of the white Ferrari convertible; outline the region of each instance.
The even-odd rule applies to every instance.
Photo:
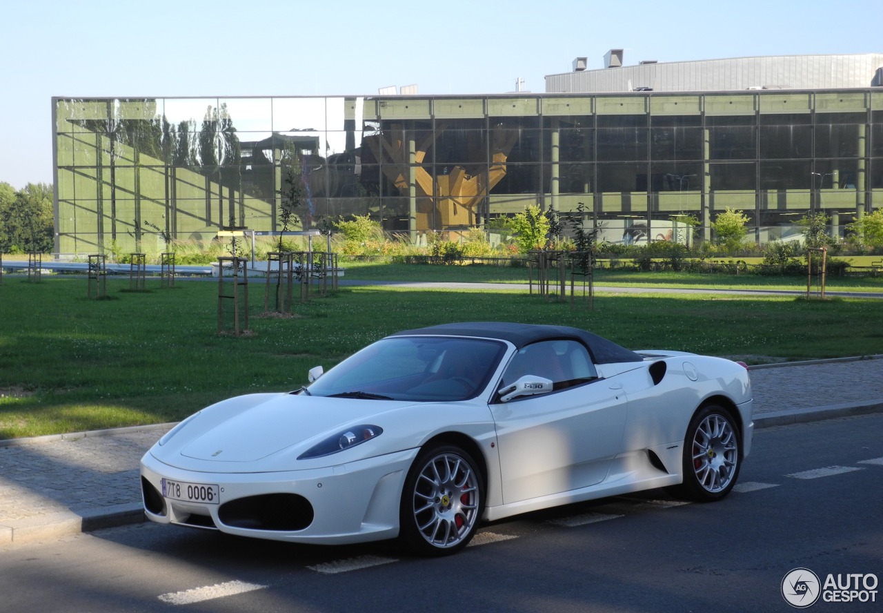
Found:
[[[310,384],[312,396],[452,401],[487,386],[506,345],[457,337],[392,337],[368,345]]]

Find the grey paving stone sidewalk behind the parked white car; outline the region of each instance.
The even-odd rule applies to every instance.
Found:
[[[883,411],[883,356],[751,368],[758,428]],[[139,462],[171,427],[0,441],[0,547],[143,520]]]

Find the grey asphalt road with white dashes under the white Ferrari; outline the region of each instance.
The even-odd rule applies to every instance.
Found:
[[[10,546],[0,611],[794,610],[795,568],[883,578],[881,431],[883,414],[765,428],[721,503],[655,490],[571,505],[484,526],[441,559],[153,524]],[[878,595],[811,610],[875,611]]]

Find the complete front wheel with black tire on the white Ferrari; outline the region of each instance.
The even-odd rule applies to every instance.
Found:
[[[421,556],[448,556],[472,541],[485,504],[478,464],[455,445],[421,450],[404,480],[399,539]]]

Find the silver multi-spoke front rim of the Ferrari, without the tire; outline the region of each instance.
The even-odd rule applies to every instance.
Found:
[[[412,509],[419,534],[433,547],[456,547],[472,534],[479,514],[479,478],[453,453],[429,458],[414,484]]]

